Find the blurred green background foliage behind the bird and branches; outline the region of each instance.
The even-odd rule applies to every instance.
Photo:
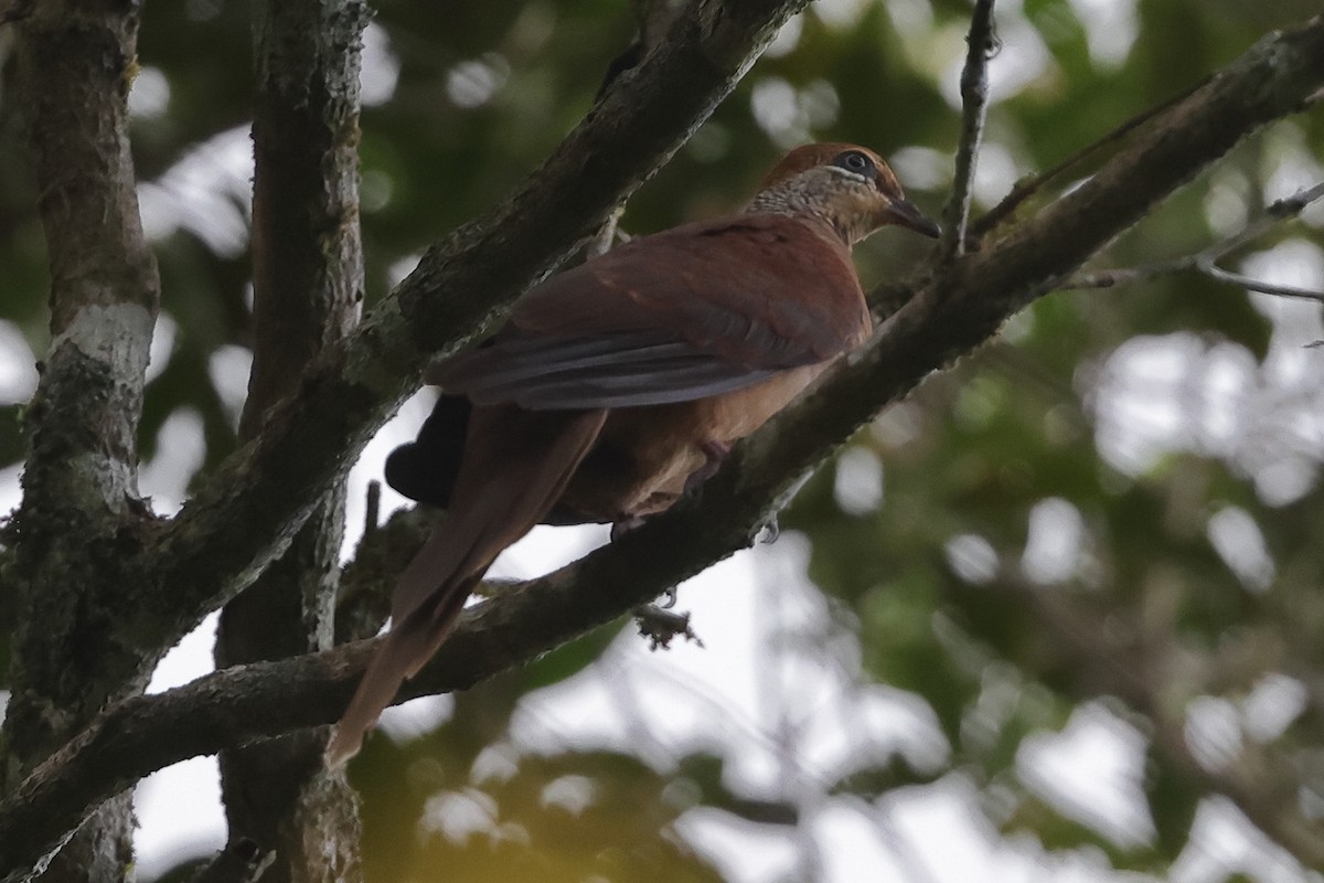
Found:
[[[984,209],[1017,177],[1184,93],[1268,29],[1317,12],[1315,0],[998,5]],[[413,256],[552,150],[634,30],[621,0],[381,0],[376,9],[361,119],[369,304]],[[152,89],[140,95],[134,148],[140,179],[155,188],[144,213],[173,328],[148,388],[143,451],[155,458],[167,418],[188,408],[203,426],[201,469],[234,445],[233,375],[250,334],[246,246],[225,228],[229,214],[246,218],[250,15],[236,0],[148,4],[140,38],[151,73],[139,87]],[[951,95],[968,15],[965,0],[812,4],[639,191],[625,229],[728,210],[784,148],[809,138],[895,158],[911,196],[936,209],[959,131]],[[44,246],[12,52],[0,30],[0,319],[41,352]],[[1200,250],[1288,183],[1317,179],[1321,155],[1317,109],[1270,127],[1120,237],[1096,269]],[[1270,249],[1304,248],[1317,285],[1324,258],[1312,217],[1315,226],[1284,225],[1247,253],[1270,254],[1272,265],[1282,252]],[[866,283],[914,266],[914,241],[875,237],[859,250]],[[1063,732],[1083,703],[1117,695],[1131,675],[1185,721],[1197,760],[1201,720],[1182,710],[1210,699],[1231,708],[1238,739],[1294,770],[1295,797],[1317,815],[1324,384],[1321,351],[1301,348],[1311,335],[1324,336],[1317,304],[1271,302],[1196,274],[1058,293],[861,434],[854,455],[880,470],[880,499],[853,503],[858,477],[821,470],[784,526],[808,537],[810,576],[858,659],[833,657],[841,642],[788,641],[781,651],[918,700],[947,752],[928,764],[895,751],[858,757],[814,800],[882,806],[956,777],[974,788],[1009,853],[1103,857],[1098,879],[1111,879],[1106,868],[1165,875],[1177,862],[1198,864],[1209,853],[1193,833],[1205,785],[1151,739],[1172,720],[1103,700],[1145,745],[1135,759],[1133,809],[1148,831],[1139,838],[1072,808],[1067,786],[1026,774],[1033,740]],[[7,462],[21,451],[17,404],[0,401]],[[1046,618],[1043,600],[1132,665],[1100,665],[1090,641]],[[792,830],[804,794],[789,785],[771,801],[739,793],[724,772],[730,745],[658,765],[642,745],[539,753],[512,741],[522,698],[592,669],[614,634],[458,696],[448,723],[422,739],[372,740],[354,769],[369,879],[716,880],[718,868],[678,834],[685,813],[708,808],[773,837]],[[1304,698],[1287,712],[1279,703],[1280,725],[1256,729],[1266,683],[1296,684]],[[1201,867],[1200,879],[1307,879],[1267,858]]]

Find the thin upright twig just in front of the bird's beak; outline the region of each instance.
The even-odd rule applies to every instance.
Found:
[[[984,136],[989,105],[989,60],[1000,48],[993,28],[993,0],[977,0],[965,37],[965,69],[961,71],[961,143],[956,150],[956,176],[952,195],[943,208],[943,238],[937,250],[941,261],[965,254],[965,225],[970,218],[974,162]]]

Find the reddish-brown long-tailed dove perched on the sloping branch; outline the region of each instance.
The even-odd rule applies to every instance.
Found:
[[[327,763],[357,753],[502,549],[540,522],[612,523],[614,537],[663,511],[863,343],[851,246],[888,225],[939,236],[878,154],[805,144],[744,210],[552,275],[483,346],[434,364],[441,397],[387,478],[448,515],[396,582]]]

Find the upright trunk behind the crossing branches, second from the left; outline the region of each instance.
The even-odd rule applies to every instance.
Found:
[[[257,438],[269,408],[359,318],[359,68],[361,0],[258,8],[253,119],[254,349],[240,421]],[[221,610],[216,662],[228,667],[331,647],[344,532],[336,483],[285,553]],[[273,883],[360,879],[359,818],[343,770],[322,765],[326,733],[305,729],[221,752],[232,843],[275,854]]]

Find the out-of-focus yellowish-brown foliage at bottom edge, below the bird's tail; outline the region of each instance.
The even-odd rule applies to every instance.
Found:
[[[669,834],[694,785],[625,753],[523,756],[503,736],[522,694],[518,675],[499,678],[426,737],[372,741],[354,770],[368,879],[720,879]]]

